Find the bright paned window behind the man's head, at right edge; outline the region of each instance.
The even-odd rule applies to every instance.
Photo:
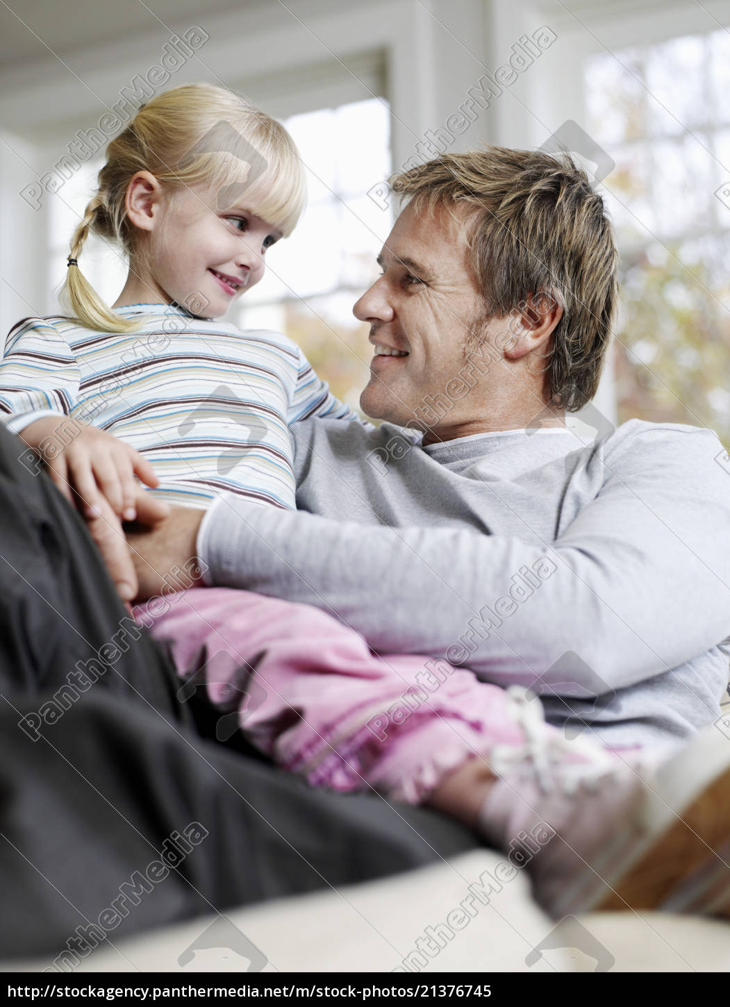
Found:
[[[709,426],[726,443],[729,85],[724,29],[586,63],[589,132],[616,162],[604,194],[622,260],[618,419]]]

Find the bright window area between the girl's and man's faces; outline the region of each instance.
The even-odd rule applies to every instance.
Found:
[[[378,274],[391,215],[367,192],[390,173],[390,115],[370,99],[285,120],[306,166],[309,203],[240,301],[242,328],[286,332],[334,394],[356,408],[373,356],[352,304]]]

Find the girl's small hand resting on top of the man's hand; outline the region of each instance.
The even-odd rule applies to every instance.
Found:
[[[98,517],[107,499],[120,521],[134,521],[139,492],[135,476],[145,485],[159,485],[139,451],[67,416],[35,420],[20,437],[40,455],[58,489],[86,518]]]

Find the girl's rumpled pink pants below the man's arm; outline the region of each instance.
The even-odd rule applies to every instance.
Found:
[[[181,697],[204,687],[220,737],[240,727],[315,786],[418,804],[466,759],[523,737],[503,690],[444,661],[374,655],[310,605],[192,588],[135,617],[167,648]]]

